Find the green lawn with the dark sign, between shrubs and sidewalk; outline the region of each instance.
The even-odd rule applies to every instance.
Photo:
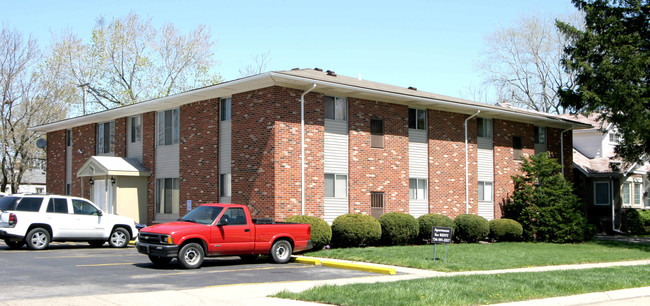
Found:
[[[330,249],[306,256],[374,262],[435,271],[473,271],[650,259],[650,244],[618,241],[590,241],[577,244],[501,242],[492,244],[450,244],[447,262],[444,245]]]

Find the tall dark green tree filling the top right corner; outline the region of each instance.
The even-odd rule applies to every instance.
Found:
[[[564,22],[570,38],[566,70],[576,87],[560,90],[562,105],[598,112],[622,134],[615,152],[628,161],[650,155],[650,1],[572,0],[585,13],[586,28]]]

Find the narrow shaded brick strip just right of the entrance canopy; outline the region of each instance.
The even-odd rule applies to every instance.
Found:
[[[142,164],[151,172],[147,178],[147,224],[152,224],[156,192],[156,112],[142,114]]]

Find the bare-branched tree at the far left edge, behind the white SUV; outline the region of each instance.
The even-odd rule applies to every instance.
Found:
[[[24,39],[16,30],[3,26],[0,32],[0,146],[2,150],[0,191],[7,185],[18,191],[25,171],[44,152],[36,148],[40,136],[28,128],[62,119],[65,109],[59,98],[69,94],[58,76],[40,65],[35,40]],[[47,68],[45,68],[47,67]]]

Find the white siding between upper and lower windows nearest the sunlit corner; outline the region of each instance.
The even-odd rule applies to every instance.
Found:
[[[348,173],[348,123],[325,120],[325,173]]]

